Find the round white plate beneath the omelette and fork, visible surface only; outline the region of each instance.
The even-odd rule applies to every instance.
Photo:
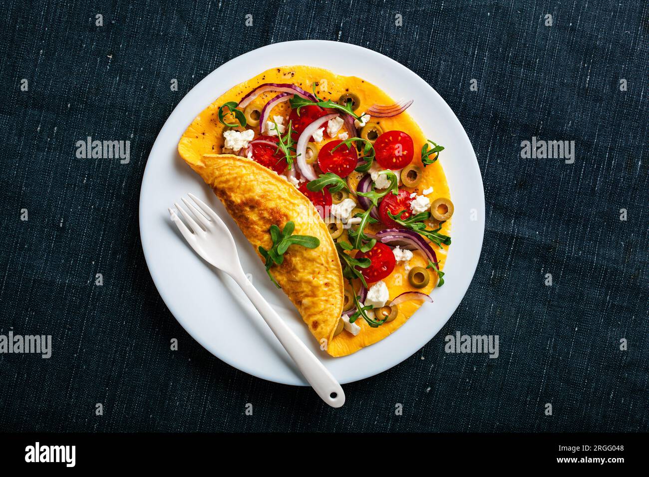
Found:
[[[319,349],[286,295],[267,279],[262,262],[221,202],[177,152],[180,136],[208,104],[239,82],[265,69],[287,64],[357,75],[395,99],[414,99],[409,110],[411,116],[429,138],[446,147],[440,160],[455,204],[453,241],[444,269],[446,284],[433,291],[434,303],[424,304],[396,332],[343,358],[331,358]],[[236,241],[243,269],[250,274],[254,286],[343,384],[386,371],[428,343],[466,293],[482,248],[485,217],[482,177],[471,142],[458,118],[441,96],[410,69],[387,56],[347,43],[317,40],[276,43],[234,58],[212,71],[180,101],[158,134],[140,192],[144,256],[162,299],[178,322],[212,354],[245,373],[279,383],[306,385],[288,354],[236,284],[203,262],[169,220],[167,207],[190,191],[212,204],[223,217]]]

